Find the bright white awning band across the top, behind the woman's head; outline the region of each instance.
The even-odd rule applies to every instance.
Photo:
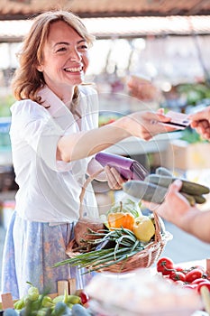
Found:
[[[210,15],[105,17],[82,20],[87,30],[95,34],[97,38],[210,33]],[[31,20],[0,21],[0,42],[22,42],[31,24]]]

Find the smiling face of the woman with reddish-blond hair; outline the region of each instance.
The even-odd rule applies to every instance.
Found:
[[[84,78],[84,64],[87,64],[86,40],[68,23],[52,23],[42,55],[43,60],[37,70],[43,73],[46,84],[59,98],[69,100],[74,86]]]

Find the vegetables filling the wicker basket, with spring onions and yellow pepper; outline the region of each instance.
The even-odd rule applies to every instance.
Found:
[[[79,227],[82,225],[82,219]],[[163,222],[161,220],[160,222],[160,234],[168,236]],[[84,218],[85,234],[84,229],[75,230],[75,239],[78,243],[76,245],[71,243],[70,246],[73,247],[68,251],[69,258],[54,266],[78,265],[80,268],[87,268],[88,273],[101,272],[122,263],[119,268],[117,267],[117,272],[123,272],[125,262],[129,263],[129,259],[153,245],[156,233],[153,214],[142,215],[139,204],[130,199],[114,204],[106,214],[103,229],[101,225],[95,230],[93,228],[96,228],[96,225],[91,224],[91,221],[87,222]],[[139,262],[140,260],[141,258]],[[147,266],[151,264],[152,261]],[[134,268],[130,266],[131,270]]]

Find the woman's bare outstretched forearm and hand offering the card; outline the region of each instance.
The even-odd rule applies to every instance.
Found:
[[[136,112],[123,116],[114,123],[86,132],[60,137],[57,159],[71,162],[98,153],[130,136],[149,140],[154,135],[171,132],[174,129],[160,125],[169,122],[169,117],[153,112]]]

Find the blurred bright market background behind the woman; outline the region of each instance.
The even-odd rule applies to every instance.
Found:
[[[8,218],[14,211],[13,161],[10,148],[10,82],[16,54],[32,22],[54,9],[73,11],[96,42],[89,51],[86,80],[99,94],[99,124],[136,110],[193,113],[210,105],[210,1],[188,0],[1,0],[0,1],[0,266]],[[131,137],[108,152],[129,156],[150,172],[165,166],[178,176],[210,185],[210,144],[189,127],[150,142]],[[94,183],[103,214],[120,192]],[[210,208],[210,198],[201,211]],[[163,255],[175,262],[210,256],[210,246],[169,223],[173,235]]]

